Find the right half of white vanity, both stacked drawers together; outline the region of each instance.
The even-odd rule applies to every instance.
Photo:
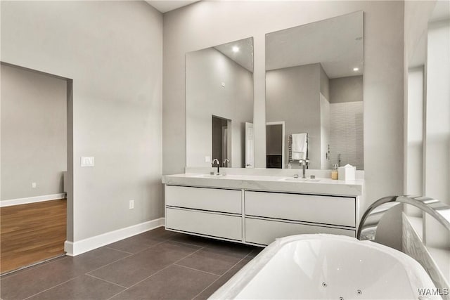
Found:
[[[307,233],[355,237],[356,198],[245,191],[245,242]]]

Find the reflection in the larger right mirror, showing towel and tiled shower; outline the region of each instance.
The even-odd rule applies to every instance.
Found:
[[[266,34],[266,122],[285,123],[277,167],[307,159],[309,169],[364,169],[363,18],[360,11]]]

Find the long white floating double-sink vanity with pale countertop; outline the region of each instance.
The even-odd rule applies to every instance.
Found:
[[[167,230],[267,245],[302,233],[356,236],[364,181],[282,176],[163,176]]]

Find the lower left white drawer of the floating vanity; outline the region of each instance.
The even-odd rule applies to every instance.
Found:
[[[240,216],[167,207],[166,228],[242,241],[242,217]]]

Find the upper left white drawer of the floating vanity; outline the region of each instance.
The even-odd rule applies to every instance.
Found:
[[[165,202],[171,207],[241,214],[241,194],[240,190],[165,185]]]

